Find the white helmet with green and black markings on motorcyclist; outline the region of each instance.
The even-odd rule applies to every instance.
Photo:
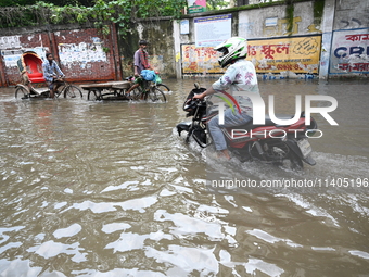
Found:
[[[225,67],[231,61],[240,58],[246,58],[247,55],[247,41],[241,37],[231,37],[225,42],[215,47],[214,50],[219,51],[222,55],[218,59],[221,67]]]

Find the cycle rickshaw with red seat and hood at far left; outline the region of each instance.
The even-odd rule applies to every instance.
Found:
[[[42,59],[33,51],[24,52],[17,61],[22,81],[15,86],[15,98],[48,98],[50,90],[46,85],[42,73]],[[42,84],[43,83],[43,84]],[[37,85],[33,85],[37,84]],[[46,87],[42,87],[44,85]],[[81,90],[63,80],[63,85],[55,91],[55,97],[63,95],[64,98],[82,97]]]

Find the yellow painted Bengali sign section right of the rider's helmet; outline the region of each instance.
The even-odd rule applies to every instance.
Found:
[[[257,73],[318,73],[321,36],[249,40]]]

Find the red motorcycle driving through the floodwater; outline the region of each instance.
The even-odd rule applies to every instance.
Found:
[[[205,88],[195,84],[195,88],[188,95],[183,111],[187,117],[192,116],[191,122],[182,122],[177,125],[178,135],[187,131],[186,142],[190,138],[201,147],[212,144],[212,137],[206,126],[207,123],[218,114],[215,105],[208,100],[193,99],[194,95],[202,93]],[[278,116],[280,119],[290,119],[292,116]],[[308,137],[311,137],[317,129],[317,123],[310,119],[305,125],[305,114],[302,112],[296,123],[291,125],[276,125],[269,116],[265,118],[265,125],[253,125],[250,122],[245,125],[221,128],[226,137],[228,150],[241,162],[258,160],[276,165],[290,161],[292,169],[302,169],[303,162],[315,165],[311,158],[311,146]]]

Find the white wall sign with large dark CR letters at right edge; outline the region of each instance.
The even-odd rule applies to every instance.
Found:
[[[369,73],[369,29],[333,33],[330,73]]]

